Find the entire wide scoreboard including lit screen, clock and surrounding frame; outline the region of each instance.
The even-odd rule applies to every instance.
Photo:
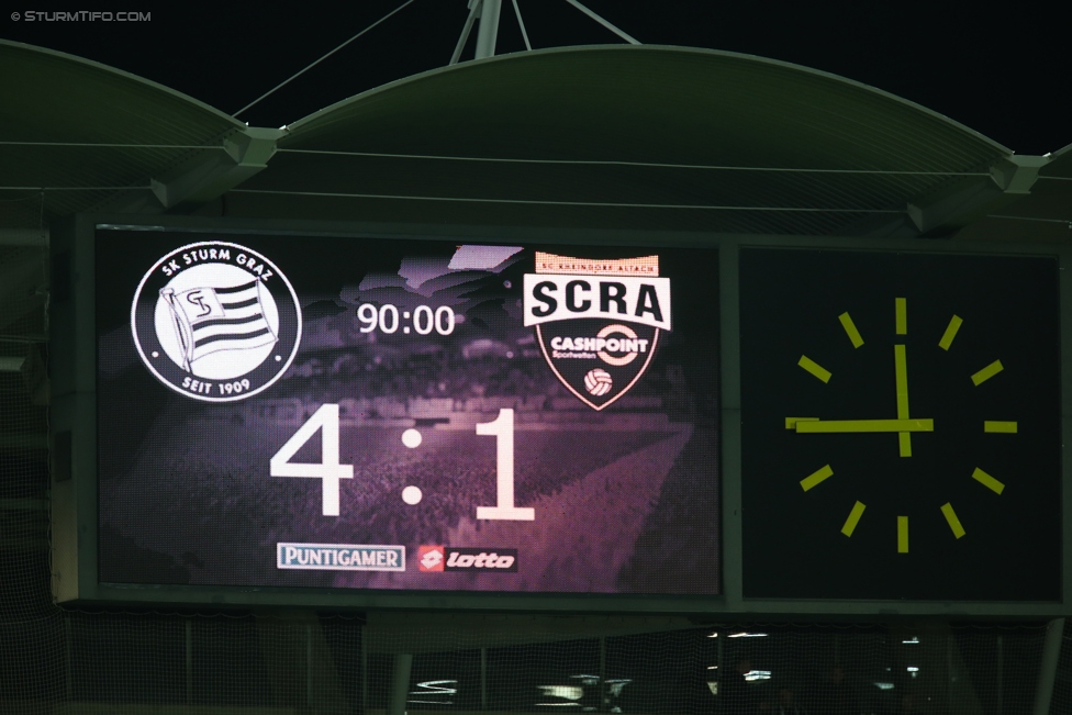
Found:
[[[59,601],[1067,610],[1067,248],[393,228],[54,233]]]

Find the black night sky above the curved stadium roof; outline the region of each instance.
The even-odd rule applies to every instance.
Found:
[[[0,36],[131,71],[236,111],[402,0],[350,3],[97,2],[152,12],[147,23],[13,21]],[[565,0],[520,0],[536,48],[618,42]],[[62,4],[20,3],[52,11]],[[1005,144],[1045,154],[1072,143],[1072,53],[1053,5],[761,0],[587,0],[645,44],[727,49],[805,65],[913,100]],[[114,5],[114,7],[113,7]],[[14,7],[14,5],[11,5]],[[70,8],[74,9],[74,8]],[[78,9],[87,9],[86,4]],[[466,0],[413,4],[241,119],[279,126],[387,81],[445,65]],[[464,57],[471,57],[470,49]],[[523,49],[510,0],[499,53]]]

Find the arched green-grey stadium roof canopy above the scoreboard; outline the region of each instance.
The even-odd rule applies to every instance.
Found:
[[[1069,152],[1017,156],[873,88],[707,49],[491,57],[271,130],[0,41],[0,200],[43,191],[46,221],[197,212],[1063,241],[1072,198]]]

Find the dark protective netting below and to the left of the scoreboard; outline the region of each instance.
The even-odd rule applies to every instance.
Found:
[[[55,605],[42,201],[0,201],[0,714],[1036,712],[1046,624]],[[1070,713],[1072,630],[1059,655]]]

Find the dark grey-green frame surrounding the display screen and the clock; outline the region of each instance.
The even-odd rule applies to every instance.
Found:
[[[96,266],[93,246],[98,227],[198,233],[290,234],[367,239],[442,239],[479,243],[577,244],[606,246],[667,246],[717,252],[719,300],[721,391],[721,526],[722,585],[716,596],[628,594],[523,594],[487,592],[349,591],[312,588],[182,586],[112,584],[98,580],[98,515],[96,473],[94,324]],[[1072,443],[1072,284],[1065,268],[1072,247],[1051,244],[973,243],[928,239],[868,239],[851,237],[758,236],[651,231],[554,230],[520,226],[462,226],[371,224],[248,220],[200,216],[141,216],[77,214],[57,222],[52,231],[54,276],[68,268],[69,300],[54,301],[52,322],[52,444],[70,439],[70,479],[53,481],[53,590],[57,601],[142,606],[432,610],[470,612],[691,614],[703,617],[1052,617],[1072,615],[1072,569],[1061,574],[1061,597],[1054,602],[936,602],[890,600],[746,599],[741,588],[740,485],[740,353],[739,275],[741,247],[807,248],[860,252],[912,252],[969,255],[1053,256],[1059,262],[1061,434]],[[62,293],[53,287],[54,294]],[[67,435],[67,436],[65,436]],[[1072,490],[1068,460],[1061,462],[1062,565],[1072,554]]]

